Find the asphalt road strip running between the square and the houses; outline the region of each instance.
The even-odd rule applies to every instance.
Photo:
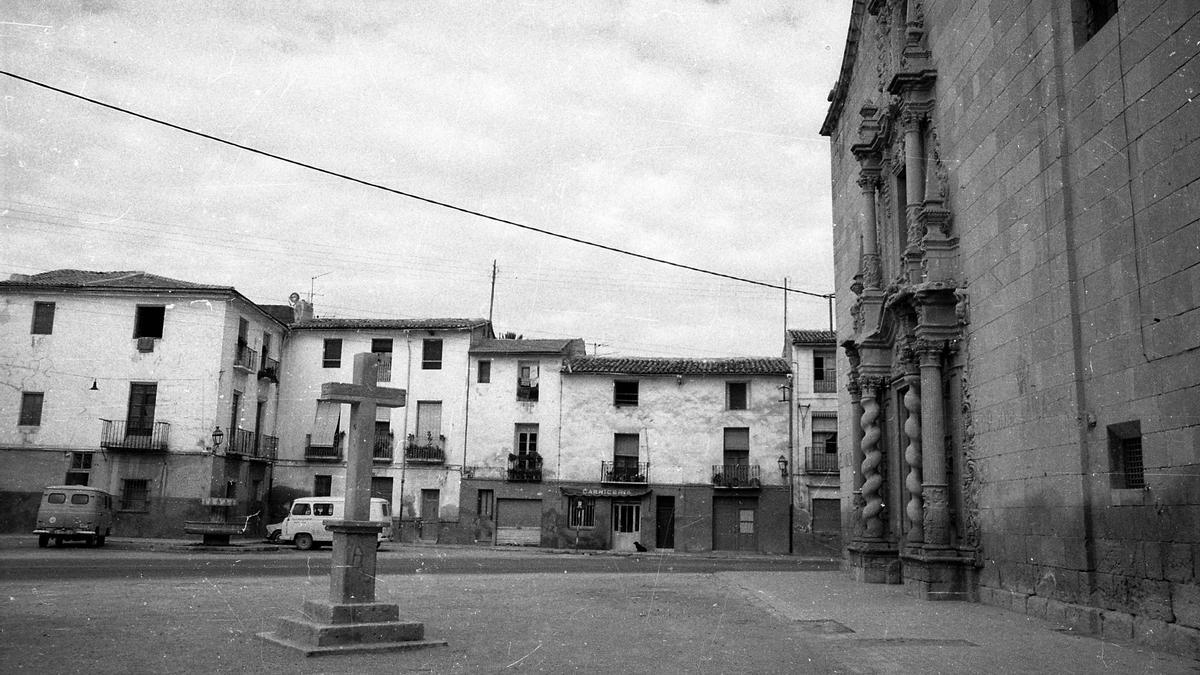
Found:
[[[85,546],[22,550],[0,558],[0,581],[38,579],[186,579],[239,577],[311,577],[329,574],[330,552],[230,554],[144,552]],[[691,555],[576,555],[550,552],[382,551],[379,574],[539,574],[539,573],[714,573],[814,572],[836,569],[836,561]]]

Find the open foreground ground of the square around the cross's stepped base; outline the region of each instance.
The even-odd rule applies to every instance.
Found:
[[[1195,673],[1200,663],[836,572],[389,575],[449,646],[304,658],[256,638],[328,578],[0,584],[5,673]]]

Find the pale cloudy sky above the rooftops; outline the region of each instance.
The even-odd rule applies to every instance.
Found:
[[[826,294],[851,0],[5,2],[4,71],[409,195]],[[0,76],[0,275],[144,270],[599,356],[779,356],[785,293]],[[493,299],[494,264],[494,299]],[[787,327],[829,328],[788,293]]]

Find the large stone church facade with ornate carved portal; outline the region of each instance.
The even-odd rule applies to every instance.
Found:
[[[856,1],[832,144],[847,566],[1200,645],[1200,10]]]

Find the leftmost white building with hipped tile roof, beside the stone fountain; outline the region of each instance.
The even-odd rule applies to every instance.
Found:
[[[44,485],[118,497],[115,532],[179,534],[206,497],[265,508],[280,307],[143,271],[0,282],[0,527],[32,526]],[[283,307],[284,311],[287,307]],[[214,430],[222,444],[215,446]]]

